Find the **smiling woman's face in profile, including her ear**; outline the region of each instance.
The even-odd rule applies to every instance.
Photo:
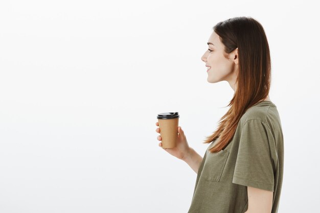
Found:
[[[208,50],[201,57],[205,66],[210,66],[207,70],[207,81],[209,83],[227,81],[234,88],[238,70],[238,48],[228,54],[227,58],[224,54],[224,45],[219,35],[213,31],[208,41]]]

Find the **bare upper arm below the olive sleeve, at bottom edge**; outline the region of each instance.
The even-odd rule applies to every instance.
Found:
[[[247,187],[248,210],[244,213],[270,213],[272,209],[273,192],[260,188]]]

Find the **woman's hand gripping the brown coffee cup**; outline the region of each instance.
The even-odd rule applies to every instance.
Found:
[[[155,123],[156,126],[159,126],[159,123]],[[157,133],[160,133],[160,129],[156,128],[155,130]],[[158,135],[158,140],[162,140],[161,135]],[[162,147],[162,143],[159,143],[159,147]],[[167,151],[169,154],[173,155],[174,157],[177,157],[178,159],[183,160],[189,155],[190,147],[186,138],[186,135],[184,131],[181,129],[181,127],[178,127],[178,138],[177,138],[177,146],[174,148],[163,148],[165,151]]]

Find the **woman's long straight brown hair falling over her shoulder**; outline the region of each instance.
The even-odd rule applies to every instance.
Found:
[[[230,109],[221,117],[217,130],[203,144],[219,137],[210,152],[219,152],[233,138],[245,111],[268,96],[271,81],[269,45],[260,22],[252,17],[234,17],[213,27],[224,44],[225,57],[238,48],[238,75]]]

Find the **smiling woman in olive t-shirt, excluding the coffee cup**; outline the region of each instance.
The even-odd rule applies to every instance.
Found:
[[[204,141],[211,144],[203,159],[181,127],[177,147],[163,148],[197,173],[188,212],[276,213],[284,147],[280,116],[268,96],[271,63],[264,29],[252,17],[227,19],[213,27],[208,46],[201,57],[207,80],[230,84],[235,91],[230,109]]]

